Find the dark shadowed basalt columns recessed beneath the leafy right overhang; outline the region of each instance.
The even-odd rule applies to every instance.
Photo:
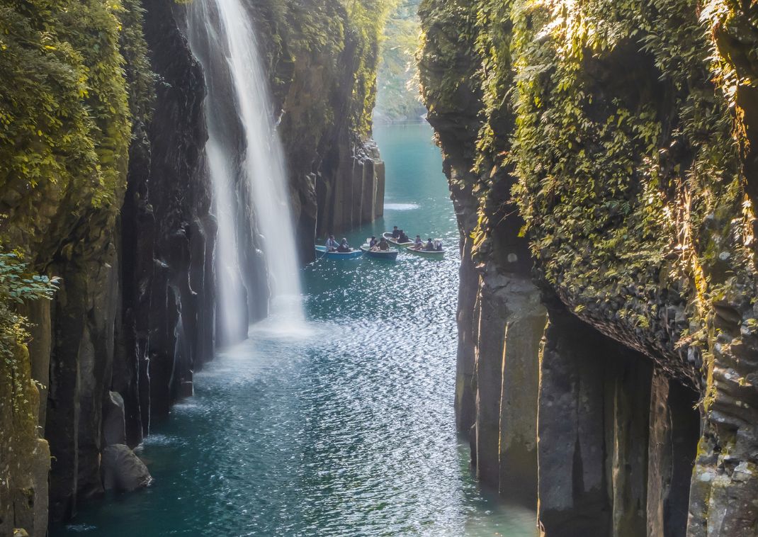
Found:
[[[551,306],[538,426],[545,535],[684,535],[696,398],[646,356]]]

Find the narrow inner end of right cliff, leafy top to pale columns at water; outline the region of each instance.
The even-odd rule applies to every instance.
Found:
[[[461,232],[456,415],[471,441],[482,482],[506,497],[537,506],[537,396],[540,338],[546,313],[530,278],[523,221],[509,202],[509,169],[478,153],[482,92],[473,52],[471,6],[426,5],[420,58],[428,121],[443,148]],[[512,124],[504,111],[498,121]],[[478,159],[487,159],[483,171]],[[486,190],[492,183],[498,187]],[[493,239],[477,235],[484,203]]]

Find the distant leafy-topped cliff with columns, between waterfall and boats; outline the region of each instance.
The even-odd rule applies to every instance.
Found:
[[[252,5],[257,29],[267,36],[262,42],[282,111],[279,133],[306,257],[316,236],[384,214],[384,162],[370,119],[384,14],[362,5],[317,0],[307,12],[290,6],[285,13],[265,0]],[[301,19],[315,24],[302,26]]]

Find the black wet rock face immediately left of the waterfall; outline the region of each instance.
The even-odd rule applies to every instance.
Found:
[[[149,167],[133,168],[130,174],[130,203],[144,203],[143,211],[152,212],[152,218],[145,218],[144,212],[130,217],[145,222],[144,230],[136,228],[136,237],[146,244],[137,244],[136,250],[142,250],[140,255],[151,251],[152,257],[145,260],[149,267],[135,266],[125,274],[136,291],[125,300],[136,309],[124,308],[123,316],[125,321],[144,323],[133,331],[136,340],[148,335],[145,345],[137,345],[141,353],[129,358],[142,368],[137,379],[149,379],[149,384],[139,386],[143,400],[149,394],[150,407],[141,412],[146,433],[146,419],[168,414],[173,400],[191,394],[193,370],[212,357],[215,225],[204,162],[202,71],[178,29],[171,4],[144,5],[152,71],[161,83],[147,130]],[[151,234],[152,243],[147,243]],[[122,254],[130,256],[126,245]],[[140,302],[149,309],[147,319],[137,321]]]

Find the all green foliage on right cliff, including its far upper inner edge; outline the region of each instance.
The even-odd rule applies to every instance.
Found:
[[[506,203],[525,220],[521,234],[579,316],[642,339],[665,331],[660,303],[682,306],[689,326],[671,337],[707,358],[713,300],[729,288],[755,294],[746,128],[735,99],[753,82],[740,79],[735,58],[758,63],[758,42],[740,30],[750,28],[743,8],[475,0],[467,11],[425,0],[435,40],[421,64],[434,59],[440,71],[440,56],[451,62],[443,77],[426,70],[428,105],[459,108],[466,79],[481,92],[468,94],[479,108],[475,173],[456,185],[478,197],[479,253],[500,225],[492,217],[503,201],[492,193],[500,181],[515,184]],[[457,31],[455,42],[453,31],[443,36],[452,46],[437,27]],[[728,55],[714,40],[725,28],[732,45],[743,43]],[[474,67],[453,63],[461,57]]]

